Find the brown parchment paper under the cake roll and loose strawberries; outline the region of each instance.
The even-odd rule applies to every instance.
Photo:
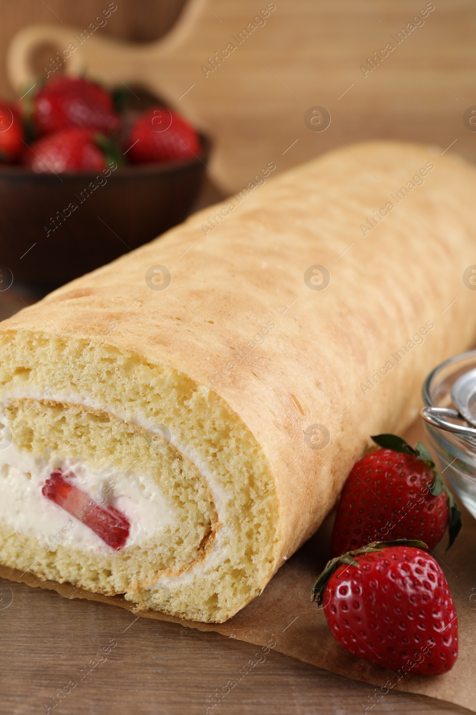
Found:
[[[420,420],[405,437],[411,445],[425,441]],[[446,700],[476,712],[476,521],[464,508],[462,518],[463,529],[451,551],[445,553],[447,535],[435,551],[455,601],[460,641],[460,655],[454,668],[442,676],[407,674],[400,678],[393,671],[351,656],[334,641],[323,611],[310,601],[310,589],[328,560],[332,517],[280,568],[263,593],[226,623],[196,623],[163,613],[137,613],[143,618],[181,623],[201,631],[218,631],[223,636],[259,646],[274,642],[275,650],[288,656],[378,686],[375,702],[379,694],[383,697],[389,689],[396,689]],[[21,574],[5,566],[0,566],[0,576],[36,588],[53,589],[65,598],[87,598],[134,612],[133,604],[122,596],[110,598],[69,583],[40,581],[31,573]]]

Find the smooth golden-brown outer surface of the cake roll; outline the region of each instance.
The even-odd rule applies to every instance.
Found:
[[[404,430],[427,373],[476,335],[476,292],[462,282],[476,263],[475,169],[414,144],[350,149],[269,180],[239,205],[231,197],[236,208],[213,230],[209,217],[228,200],[193,215],[0,327],[106,335],[122,352],[211,386],[272,467],[282,527],[275,568],[323,521],[369,435]],[[424,184],[392,199],[427,163]],[[387,202],[395,207],[372,227]],[[166,290],[146,283],[156,265],[171,272]],[[325,290],[305,284],[313,265],[330,272]],[[424,342],[392,358],[425,322],[434,327]],[[394,368],[364,394],[388,361]],[[310,448],[311,425],[325,425],[328,446]]]

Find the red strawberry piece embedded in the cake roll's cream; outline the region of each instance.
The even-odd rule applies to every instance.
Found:
[[[131,526],[126,517],[113,506],[100,506],[71,483],[61,469],[51,472],[41,493],[92,529],[111,548],[119,551],[125,545]]]

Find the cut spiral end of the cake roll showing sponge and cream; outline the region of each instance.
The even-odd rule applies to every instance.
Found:
[[[189,616],[193,608],[203,620],[216,613],[222,589],[247,598],[256,554],[273,541],[275,507],[265,501],[273,481],[226,405],[111,346],[69,341],[66,371],[61,339],[16,335],[9,346],[2,561],[124,593],[139,609]],[[190,405],[198,423],[181,420]],[[208,593],[191,588],[197,578]]]

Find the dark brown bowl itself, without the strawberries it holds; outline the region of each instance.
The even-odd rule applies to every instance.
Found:
[[[185,219],[209,149],[201,137],[196,158],[110,174],[0,166],[1,267],[49,289],[151,241]]]

